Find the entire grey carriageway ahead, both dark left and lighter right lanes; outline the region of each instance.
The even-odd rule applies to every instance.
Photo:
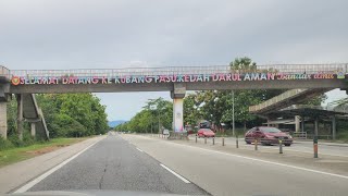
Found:
[[[344,196],[348,193],[347,164],[348,161],[339,164],[344,172],[332,173],[266,160],[262,154],[250,157],[219,151],[209,145],[110,134],[46,177],[29,182],[33,186],[28,192],[117,189],[217,196]]]

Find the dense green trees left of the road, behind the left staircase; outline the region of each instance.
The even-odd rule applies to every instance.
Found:
[[[82,137],[104,134],[109,130],[105,106],[92,94],[38,94],[38,107],[50,132],[50,137]],[[16,100],[8,102],[8,137],[17,142]],[[24,143],[29,140],[29,123],[24,122]]]

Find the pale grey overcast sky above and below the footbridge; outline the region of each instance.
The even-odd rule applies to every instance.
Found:
[[[98,69],[348,62],[347,0],[0,0],[0,64]],[[129,120],[170,93],[97,94]],[[330,100],[346,96],[336,90]]]

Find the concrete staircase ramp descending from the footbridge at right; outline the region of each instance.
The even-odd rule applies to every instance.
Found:
[[[331,88],[290,89],[259,105],[249,107],[249,112],[261,117],[268,117],[271,112],[301,103],[328,90],[331,90]]]

